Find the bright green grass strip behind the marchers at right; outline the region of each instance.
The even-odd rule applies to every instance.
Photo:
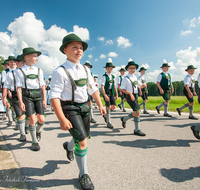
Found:
[[[197,96],[194,97],[194,113],[200,113],[200,106],[197,101]],[[101,97],[101,101],[103,102],[103,105],[105,106],[104,99]],[[149,96],[148,102],[146,104],[147,110],[156,110],[155,107],[160,105],[163,102],[163,98],[161,96]],[[118,105],[121,102],[121,98],[118,98],[116,101],[116,105]],[[142,102],[142,98],[138,98],[138,103],[140,104]],[[185,96],[171,96],[171,101],[169,103],[169,111],[176,112],[176,108],[181,107],[183,104],[188,103],[188,100]],[[125,102],[125,107],[130,108],[127,102]],[[143,109],[143,106],[141,106],[141,109]],[[162,107],[161,110],[164,110]],[[183,112],[188,112],[188,108],[185,108]]]

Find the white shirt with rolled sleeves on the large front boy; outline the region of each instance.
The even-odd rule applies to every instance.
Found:
[[[69,60],[66,60],[66,62],[63,64],[63,66],[67,69],[67,71],[70,73],[71,77],[74,80],[80,80],[80,79],[87,79],[88,78],[88,84],[91,85],[84,85],[84,86],[77,86],[77,89],[74,91],[74,102],[77,103],[83,103],[88,100],[88,93],[92,95],[94,92],[96,92],[98,89],[94,85],[94,79],[90,74],[90,70],[87,69],[87,75],[86,71],[84,69],[84,66],[79,63],[75,64],[70,62]],[[72,87],[70,80],[65,73],[65,70],[62,67],[57,67],[53,71],[53,75],[51,78],[51,91],[50,91],[50,99],[53,98],[59,98],[63,101],[71,101],[72,99]]]

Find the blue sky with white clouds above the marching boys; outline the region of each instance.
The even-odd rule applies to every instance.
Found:
[[[1,7],[0,54],[4,57],[19,54],[23,48],[21,41],[40,49],[46,57],[39,60],[38,67],[46,77],[63,63],[65,57],[57,47],[64,34],[74,32],[75,28],[89,44],[81,63],[89,60],[92,72],[99,76],[105,72],[103,67],[111,56],[113,64],[118,66],[114,71],[116,76],[130,57],[140,66],[145,64],[147,79],[152,82],[160,72],[163,59],[171,65],[173,81],[183,80],[189,64],[200,68],[198,0],[7,0],[1,1]],[[25,13],[32,13],[31,18]],[[24,29],[21,33],[20,27],[27,22],[26,29],[30,25],[39,28],[38,41],[30,40],[37,37],[34,31],[27,29],[27,34]],[[45,38],[52,26],[58,32]],[[23,34],[26,37],[20,36]],[[52,46],[57,48],[54,52]],[[195,77],[199,72],[197,69]]]

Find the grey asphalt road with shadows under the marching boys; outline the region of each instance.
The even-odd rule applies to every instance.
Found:
[[[189,120],[188,113],[172,118],[150,111],[141,114],[141,129],[147,135],[133,135],[134,123],[122,128],[120,117],[127,115],[116,109],[111,115],[114,129],[106,128],[104,119],[94,109],[96,124],[91,125],[88,141],[88,170],[96,190],[132,189],[200,189],[200,141],[195,139],[190,126],[200,122]],[[80,189],[76,161],[69,162],[62,147],[69,141],[68,131],[48,107],[42,129],[41,150],[31,150],[31,137],[19,142],[19,131],[6,122],[0,129],[18,163],[21,175],[30,189]],[[4,171],[1,171],[4,172]],[[13,177],[13,176],[12,176]],[[17,178],[18,177],[18,178]],[[0,183],[1,188],[6,182]],[[12,185],[12,182],[7,182]],[[1,189],[0,188],[0,189]]]

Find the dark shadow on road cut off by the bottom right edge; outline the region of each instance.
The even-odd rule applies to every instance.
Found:
[[[189,169],[160,169],[160,173],[163,177],[166,177],[170,181],[173,182],[184,182],[187,180],[192,180],[194,178],[200,178],[200,166],[199,167],[191,167]]]

